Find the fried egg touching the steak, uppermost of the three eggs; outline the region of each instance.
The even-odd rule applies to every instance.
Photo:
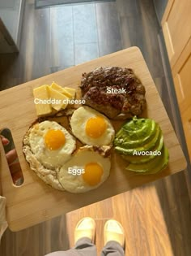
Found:
[[[70,119],[75,137],[87,145],[109,145],[115,136],[111,122],[89,106],[81,106]]]

